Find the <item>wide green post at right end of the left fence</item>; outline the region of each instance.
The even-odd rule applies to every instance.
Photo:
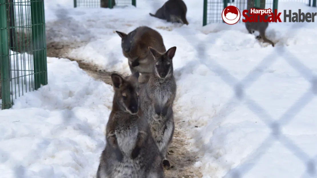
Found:
[[[31,0],[34,89],[47,84],[44,0]]]

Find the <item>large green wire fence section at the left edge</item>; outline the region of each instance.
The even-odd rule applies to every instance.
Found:
[[[47,84],[44,0],[0,0],[1,108]]]

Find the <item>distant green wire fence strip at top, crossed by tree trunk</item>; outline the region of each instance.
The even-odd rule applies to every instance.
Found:
[[[113,8],[120,6],[133,5],[136,7],[136,0],[74,0],[74,7],[91,8]]]

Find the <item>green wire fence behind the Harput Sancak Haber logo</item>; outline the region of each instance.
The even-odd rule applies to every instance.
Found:
[[[236,6],[240,12],[250,7],[256,6],[262,9],[277,9],[278,2],[301,2],[308,6],[316,7],[316,0],[204,0],[203,26],[210,23],[223,22],[221,13],[227,6]],[[242,22],[242,14],[240,23]]]

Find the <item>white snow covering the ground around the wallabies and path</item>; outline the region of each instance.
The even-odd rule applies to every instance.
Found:
[[[203,178],[314,177],[316,23],[270,23],[272,47],[243,23],[202,27],[203,1],[185,0],[188,26],[148,15],[163,3],[138,0],[137,8],[110,10],[45,0],[48,40],[76,44],[69,58],[129,74],[114,31],[141,25],[158,30],[166,48],[177,46],[174,111],[183,124],[176,129],[186,149],[197,152],[192,166]],[[317,11],[296,2],[279,2],[278,9]],[[95,177],[113,89],[63,58],[48,58],[48,77],[48,85],[0,111],[0,174]]]

